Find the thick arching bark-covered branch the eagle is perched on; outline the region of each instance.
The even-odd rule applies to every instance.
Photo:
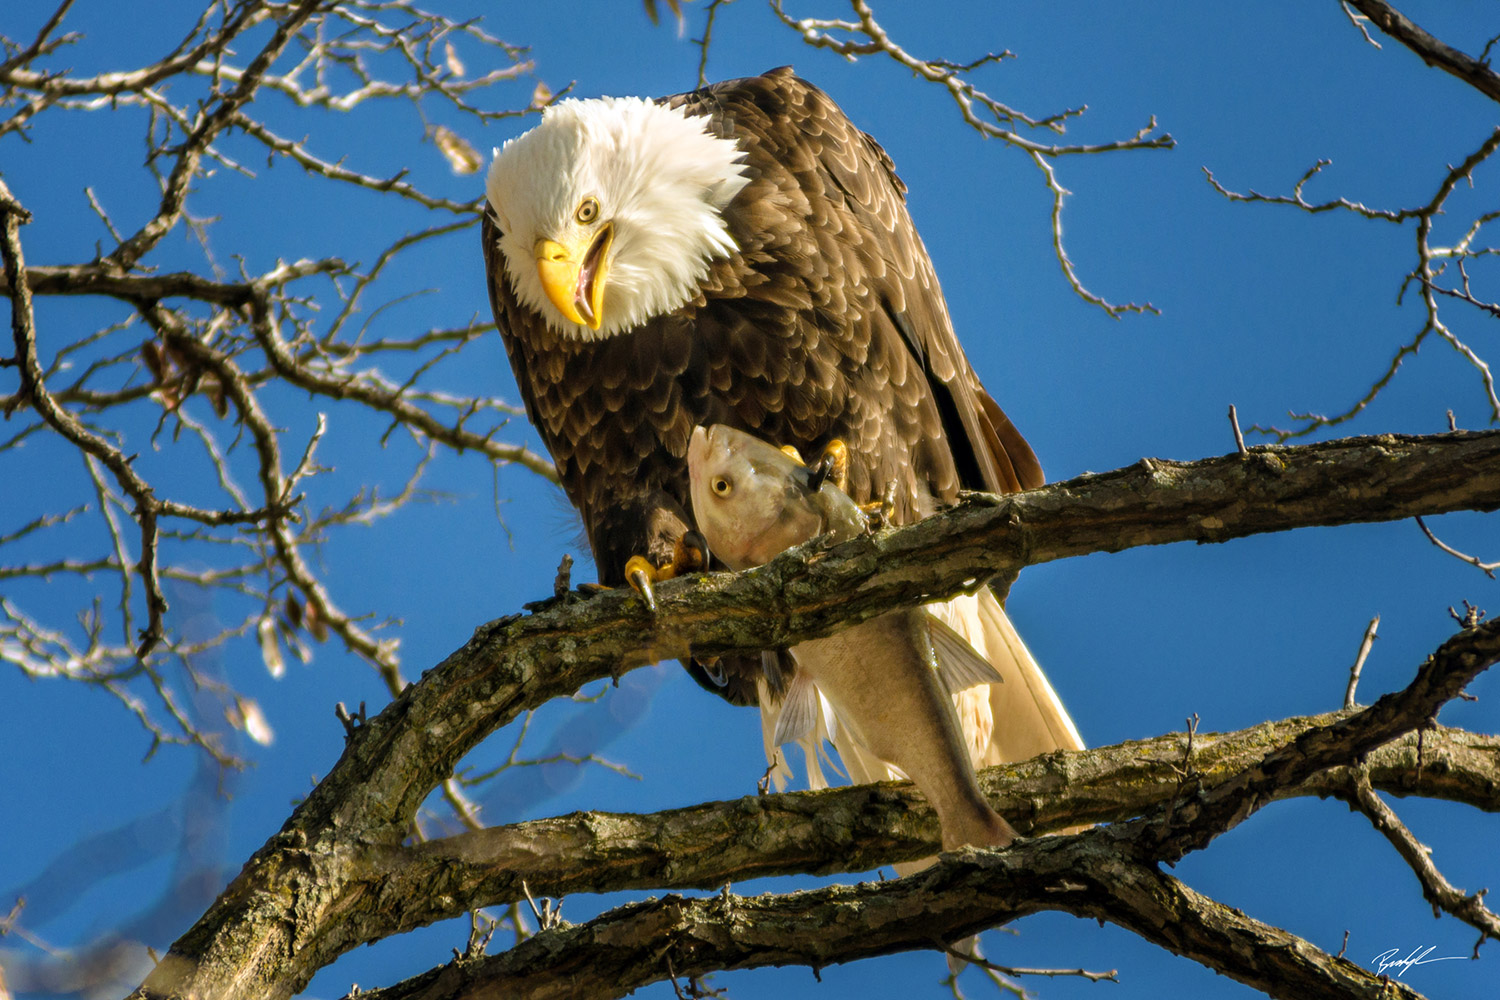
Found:
[[[1192,463],[1143,460],[1023,495],[970,499],[920,525],[834,550],[806,547],[750,573],[670,582],[657,592],[657,616],[633,595],[610,592],[492,622],[352,732],[328,777],[174,945],[144,990],[279,999],[344,951],[388,933],[378,930],[390,922],[378,913],[381,894],[362,882],[364,852],[398,850],[420,804],[484,736],[592,679],[690,649],[794,645],[1032,562],[1496,507],[1496,432],[1263,447]],[[1500,630],[1466,636],[1478,649],[1466,654],[1467,667],[1500,655]],[[1350,763],[1352,754],[1436,711],[1432,699],[1455,684],[1437,681],[1407,702],[1383,700],[1314,730],[1302,751],[1318,754],[1318,768]],[[1160,825],[1154,850],[1167,856],[1202,846],[1316,771],[1272,751],[1220,798],[1179,804],[1170,828]]]

